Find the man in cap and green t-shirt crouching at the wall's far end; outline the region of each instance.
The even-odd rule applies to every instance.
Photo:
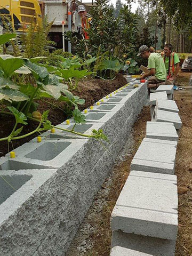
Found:
[[[141,79],[151,76],[148,79],[148,89],[156,89],[166,81],[166,69],[163,58],[156,52],[151,53],[146,45],[141,45],[138,56],[148,59],[148,69],[150,69],[148,73],[141,76]]]

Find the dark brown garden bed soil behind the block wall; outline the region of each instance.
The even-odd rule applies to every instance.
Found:
[[[103,98],[105,95],[109,94],[110,92],[115,91],[119,87],[122,87],[126,84],[126,79],[121,74],[116,74],[116,79],[113,81],[103,81],[101,79],[92,79],[92,80],[84,80],[82,82],[79,82],[77,90],[73,91],[74,95],[77,95],[80,98],[85,99],[84,105],[79,105],[79,109],[83,110],[91,105],[93,105],[94,102],[98,101],[99,99]],[[47,99],[50,103],[55,103],[55,100]],[[44,110],[49,109],[49,120],[53,125],[58,125],[65,121],[67,119],[67,115],[60,109],[54,108],[49,103],[43,102],[41,100],[37,101],[39,103],[38,111],[43,113]],[[60,102],[58,105],[59,108],[65,110],[65,103]],[[7,118],[7,116],[1,115],[0,116],[0,127],[1,127],[1,133],[0,138],[4,138],[8,136],[15,124],[15,118],[14,116],[10,116]],[[26,134],[28,132],[33,131],[37,127],[36,122],[28,121],[28,125],[25,125],[23,127],[22,134]],[[18,125],[19,127],[19,125]],[[6,153],[11,151],[13,148],[17,148],[21,146],[23,143],[28,142],[29,140],[35,138],[38,135],[38,133],[34,133],[33,135],[30,135],[29,137],[25,137],[20,140],[14,140],[12,141],[13,147],[10,143],[10,150],[8,150],[7,147],[7,141],[1,141],[0,143],[0,157],[4,156]]]

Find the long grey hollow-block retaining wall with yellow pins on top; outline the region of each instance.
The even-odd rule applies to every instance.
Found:
[[[115,94],[110,99],[117,99]],[[103,129],[110,143],[45,132],[41,143],[35,138],[15,149],[15,158],[0,158],[0,175],[13,187],[1,187],[1,255],[65,255],[147,99],[147,85],[130,85],[118,94],[127,95],[118,95],[118,102],[95,103],[85,114],[88,122],[76,125],[76,131],[89,134]],[[70,122],[59,126],[69,128]]]

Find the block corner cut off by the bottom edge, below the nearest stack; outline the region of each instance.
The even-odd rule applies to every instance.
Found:
[[[110,252],[110,256],[153,256],[152,254],[130,250],[124,247],[115,246]]]

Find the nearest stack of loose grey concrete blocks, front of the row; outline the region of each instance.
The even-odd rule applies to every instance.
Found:
[[[111,214],[111,247],[135,250],[131,255],[174,255],[177,207],[175,175],[131,171]],[[111,255],[121,255],[119,250]]]

